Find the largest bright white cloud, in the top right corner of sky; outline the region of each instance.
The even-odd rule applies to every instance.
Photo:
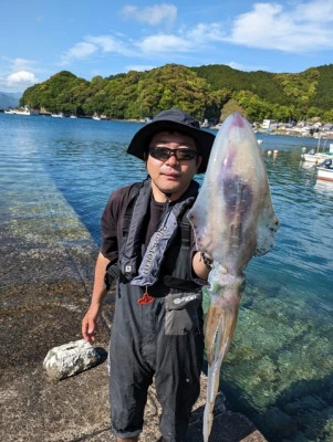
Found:
[[[295,8],[254,3],[250,12],[236,18],[226,41],[291,53],[333,49],[333,4],[326,0],[298,2]]]

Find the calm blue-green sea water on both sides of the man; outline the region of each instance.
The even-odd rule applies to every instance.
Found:
[[[146,176],[125,154],[141,126],[0,114],[2,199],[17,180],[34,182],[43,170],[100,244],[110,193]],[[269,441],[333,441],[333,185],[301,162],[302,147],[316,140],[258,138],[281,228],[273,251],[246,270],[221,386]]]

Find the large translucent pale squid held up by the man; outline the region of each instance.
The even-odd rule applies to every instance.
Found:
[[[205,318],[208,360],[204,440],[208,442],[220,367],[232,340],[244,290],[243,269],[274,245],[274,213],[256,135],[240,114],[230,115],[212,146],[201,190],[188,218],[197,248],[209,255],[210,306]]]

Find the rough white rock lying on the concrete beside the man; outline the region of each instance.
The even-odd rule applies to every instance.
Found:
[[[101,355],[84,339],[53,347],[49,350],[43,367],[50,378],[61,380],[94,367]]]

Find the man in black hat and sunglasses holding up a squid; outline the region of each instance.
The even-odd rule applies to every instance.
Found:
[[[95,340],[105,273],[117,275],[110,399],[118,442],[138,440],[153,377],[163,441],[185,440],[199,396],[201,286],[209,259],[196,251],[186,214],[198,194],[192,177],[205,172],[214,138],[179,109],[158,114],[127,149],[146,162],[148,178],[114,191],[102,217],[102,248],[82,334]]]

